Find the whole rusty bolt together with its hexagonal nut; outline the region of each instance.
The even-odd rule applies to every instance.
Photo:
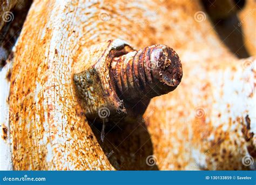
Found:
[[[85,50],[73,71],[86,118],[99,122],[140,117],[151,98],[173,91],[181,77],[179,57],[170,47],[136,51],[120,39]]]

